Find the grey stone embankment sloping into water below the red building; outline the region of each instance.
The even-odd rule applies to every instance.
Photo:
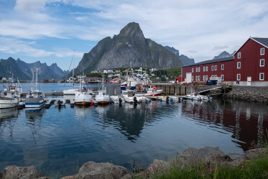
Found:
[[[223,94],[223,99],[228,98],[266,103],[268,101],[268,87],[233,87],[232,91]]]

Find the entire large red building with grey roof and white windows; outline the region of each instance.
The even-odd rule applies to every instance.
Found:
[[[268,38],[250,37],[232,57],[207,60],[182,67],[182,81],[205,82],[220,77],[222,83],[268,86]]]

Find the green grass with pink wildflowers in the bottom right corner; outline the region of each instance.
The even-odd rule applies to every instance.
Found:
[[[266,130],[267,132],[267,130]],[[225,178],[243,178],[243,179],[263,179],[268,178],[268,134],[263,139],[262,148],[266,149],[265,155],[259,155],[258,159],[250,159],[250,156],[245,156],[245,159],[237,161],[228,161],[222,157],[216,158],[214,161],[203,163],[202,161],[194,160],[188,162],[186,166],[180,163],[178,157],[169,160],[170,164],[164,165],[161,169],[154,169],[150,175],[152,179],[175,179],[175,178],[200,178],[200,179],[225,179]],[[255,146],[253,145],[252,148]]]

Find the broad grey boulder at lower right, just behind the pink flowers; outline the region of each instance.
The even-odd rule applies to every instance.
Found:
[[[219,147],[200,147],[200,148],[187,148],[180,155],[182,165],[191,164],[189,162],[209,163],[212,161],[221,161],[225,156]],[[193,163],[193,164],[194,164]]]

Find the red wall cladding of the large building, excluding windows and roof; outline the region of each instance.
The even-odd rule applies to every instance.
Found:
[[[264,48],[264,55],[261,55],[261,48]],[[238,52],[241,52],[241,58],[238,58]],[[255,42],[252,39],[248,41],[234,54],[234,60],[228,60],[223,62],[214,62],[207,64],[200,64],[194,66],[182,67],[182,80],[186,79],[186,73],[192,73],[194,80],[196,81],[196,76],[200,76],[200,81],[203,81],[203,75],[212,75],[221,77],[224,75],[223,81],[238,81],[237,74],[240,74],[240,81],[247,81],[247,77],[251,77],[251,81],[260,81],[260,73],[264,73],[264,80],[268,81],[268,49],[263,45]],[[264,60],[264,66],[260,66],[260,60]],[[240,62],[241,68],[237,68],[237,63]],[[221,65],[224,65],[224,70],[221,70]],[[215,65],[217,65],[217,70],[215,71]],[[208,71],[203,71],[203,67],[208,66]],[[211,66],[214,66],[214,71],[212,71]],[[200,72],[196,72],[196,67],[200,67]],[[192,72],[194,68],[194,72]]]

